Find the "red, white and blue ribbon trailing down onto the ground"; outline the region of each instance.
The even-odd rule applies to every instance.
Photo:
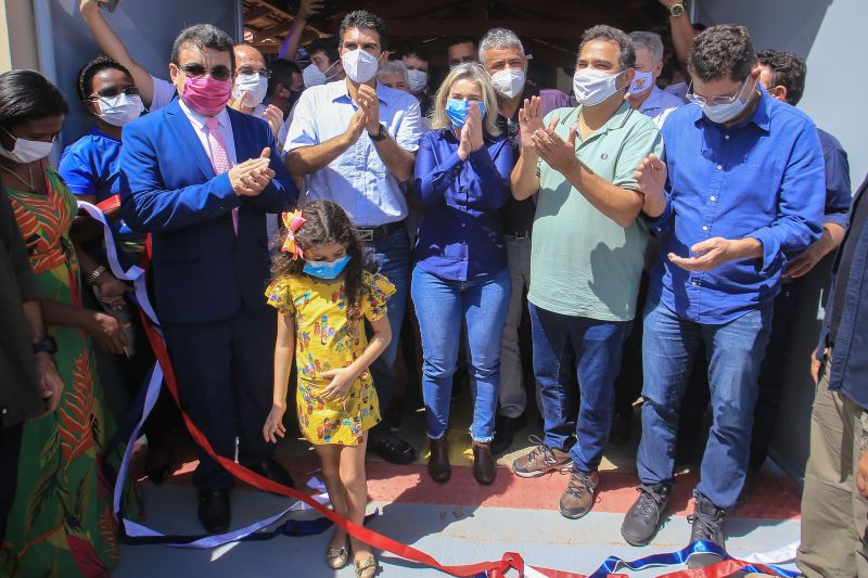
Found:
[[[294,488],[289,488],[286,486],[277,484],[276,481],[272,481],[264,476],[260,476],[259,474],[252,472],[246,467],[235,463],[233,460],[219,455],[217,452],[214,451],[214,448],[212,448],[210,442],[202,434],[202,432],[199,429],[195,423],[193,423],[190,416],[183,411],[180,401],[180,396],[178,394],[178,384],[175,376],[175,371],[171,365],[171,360],[169,359],[168,350],[166,348],[166,343],[158,329],[159,325],[157,322],[156,314],[153,310],[153,307],[151,307],[150,300],[148,298],[148,292],[144,282],[145,279],[144,269],[141,267],[133,266],[128,270],[124,270],[123,267],[120,267],[119,261],[117,259],[117,249],[114,243],[114,236],[111,228],[108,227],[108,222],[105,219],[105,216],[98,207],[89,203],[79,203],[79,207],[82,208],[86,213],[88,213],[89,216],[91,216],[92,218],[94,218],[95,220],[98,220],[103,224],[106,253],[108,255],[112,273],[118,279],[122,279],[124,281],[130,281],[133,283],[133,286],[136,287],[136,297],[139,303],[142,321],[144,323],[145,334],[148,335],[148,341],[151,344],[151,347],[157,359],[157,363],[155,364],[151,373],[151,380],[149,381],[148,391],[144,395],[141,418],[139,419],[136,427],[133,428],[133,433],[127,442],[127,448],[124,454],[124,460],[122,462],[120,472],[118,474],[118,479],[115,485],[115,491],[114,491],[115,515],[118,518],[122,532],[125,535],[127,539],[141,538],[142,540],[150,540],[151,543],[154,543],[165,538],[161,536],[159,532],[156,532],[132,521],[125,519],[123,517],[120,509],[124,479],[129,467],[129,460],[132,455],[133,442],[136,439],[138,439],[138,435],[139,432],[141,431],[142,424],[144,423],[144,420],[148,418],[148,415],[150,414],[151,410],[154,407],[154,403],[156,402],[156,398],[161,389],[161,384],[165,381],[166,388],[168,389],[169,394],[171,394],[171,397],[175,399],[175,402],[177,403],[181,412],[181,418],[183,419],[184,424],[187,425],[187,428],[190,432],[191,437],[210,458],[216,460],[232,476],[242,481],[245,481],[246,484],[255,488],[285,496],[288,498],[295,498],[296,500],[298,500],[295,504],[288,508],[283,512],[280,512],[256,524],[253,524],[247,528],[243,528],[242,530],[228,532],[221,537],[216,537],[216,536],[202,537],[194,539],[188,543],[175,543],[173,545],[186,547],[186,548],[214,548],[215,545],[219,545],[220,543],[226,543],[228,541],[245,539],[251,536],[255,537],[256,532],[261,528],[275,524],[278,519],[286,515],[290,511],[296,508],[301,508],[298,505],[301,503],[301,504],[307,504],[310,509],[316,510],[318,513],[322,514],[322,516],[326,519],[331,521],[331,523],[346,530],[356,539],[373,548],[391,552],[399,557],[403,557],[411,562],[424,564],[429,567],[438,569],[441,571],[450,574],[452,576],[458,576],[458,577],[487,576],[488,578],[502,578],[509,569],[514,568],[515,570],[519,571],[519,576],[534,576],[536,574],[536,575],[541,575],[546,578],[585,578],[584,575],[579,574],[553,570],[541,567],[525,566],[522,556],[515,552],[505,553],[499,561],[480,562],[476,564],[463,564],[463,565],[441,564],[436,558],[434,558],[430,554],[426,554],[425,552],[422,552],[420,550],[417,550],[416,548],[393,540],[387,536],[383,536],[382,534],[370,530],[363,526],[354,524],[353,522],[344,518],[343,516],[328,509],[326,505],[320,503],[320,501],[318,501],[315,497],[303,493],[298,490],[295,490]],[[149,249],[150,249],[150,240],[149,240]],[[294,522],[296,524],[299,523],[299,521],[291,521],[291,522]],[[324,524],[324,522],[318,524]],[[283,527],[285,528],[288,526],[284,525]],[[295,526],[295,528],[297,529],[297,526]],[[588,578],[623,576],[620,574],[614,574],[622,567],[639,569],[655,565],[660,566],[664,564],[680,565],[686,562],[687,557],[689,557],[691,553],[697,553],[698,551],[697,548],[704,549],[703,551],[713,551],[714,549],[717,549],[717,552],[715,553],[720,555],[722,562],[701,570],[679,570],[673,574],[668,574],[666,576],[672,578],[687,578],[687,577],[700,577],[700,576],[704,578],[714,578],[716,576],[727,576],[729,574],[732,574],[733,571],[737,571],[738,569],[744,569],[744,568],[749,568],[749,571],[766,571],[768,574],[773,574],[776,576],[783,576],[783,577],[794,576],[792,573],[789,573],[788,570],[783,570],[781,568],[777,568],[775,566],[750,564],[746,562],[733,560],[723,549],[717,548],[715,544],[709,544],[705,542],[695,542],[690,547],[688,547],[687,549],[681,550],[679,552],[675,552],[672,554],[655,554],[633,562],[625,562],[621,558],[610,557],[603,563],[603,565],[597,571],[595,571]],[[728,573],[728,574],[720,574],[720,573]]]

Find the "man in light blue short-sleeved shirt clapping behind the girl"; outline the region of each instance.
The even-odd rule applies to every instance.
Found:
[[[422,117],[409,92],[376,81],[388,53],[385,23],[357,10],[341,23],[341,61],[346,79],[304,91],[286,136],[286,166],[304,177],[302,203],[329,198],[341,205],[370,243],[380,273],[395,284],[388,322],[398,335],[409,292],[410,240],[406,181],[412,177]],[[398,339],[372,365],[380,406],[395,393]],[[416,450],[388,432],[385,420],[368,447],[385,460],[410,463]]]

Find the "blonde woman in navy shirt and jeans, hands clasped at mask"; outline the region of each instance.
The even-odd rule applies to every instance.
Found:
[[[511,292],[499,209],[510,196],[513,165],[496,116],[490,76],[477,64],[456,66],[437,91],[432,130],[419,141],[416,157],[414,189],[425,215],[416,244],[411,295],[422,333],[429,473],[438,483],[451,474],[447,431],[462,323],[475,383],[473,474],[486,485],[496,474],[490,441]]]

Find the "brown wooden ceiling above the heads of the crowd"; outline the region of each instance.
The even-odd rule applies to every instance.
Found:
[[[290,31],[293,15],[285,1],[244,0],[247,41],[263,52],[277,52]],[[386,21],[391,48],[410,38],[425,42],[435,66],[444,65],[448,38],[478,38],[502,26],[522,37],[525,51],[536,60],[571,67],[582,31],[610,24],[626,31],[666,25],[659,0],[337,0],[337,12],[315,17],[305,27],[302,43],[337,34],[341,20],[352,10],[370,10]],[[252,34],[252,37],[251,37]]]

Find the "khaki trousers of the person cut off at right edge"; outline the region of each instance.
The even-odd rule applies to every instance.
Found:
[[[829,390],[824,363],[810,418],[799,569],[809,578],[868,578],[868,501],[856,489],[868,412]]]

